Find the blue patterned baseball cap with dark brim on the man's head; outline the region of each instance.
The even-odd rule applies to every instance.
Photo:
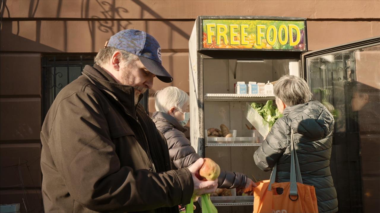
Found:
[[[107,47],[137,55],[142,64],[163,82],[173,81],[171,75],[162,66],[161,47],[150,34],[140,30],[122,30],[114,34],[108,41]]]

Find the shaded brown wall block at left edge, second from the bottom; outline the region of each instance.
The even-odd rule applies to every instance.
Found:
[[[41,144],[1,144],[0,148],[1,188],[41,187]]]

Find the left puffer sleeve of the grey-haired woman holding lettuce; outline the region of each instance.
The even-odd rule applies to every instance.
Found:
[[[285,152],[288,144],[288,128],[290,129],[284,117],[278,119],[272,126],[263,144],[253,155],[256,165],[263,171],[271,170]]]

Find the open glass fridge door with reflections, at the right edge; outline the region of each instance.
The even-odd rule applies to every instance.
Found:
[[[380,212],[380,37],[302,56],[315,100],[334,116],[330,168],[340,212]]]

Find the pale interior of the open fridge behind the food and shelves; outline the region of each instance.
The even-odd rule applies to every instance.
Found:
[[[299,73],[299,62],[295,60],[251,60],[250,62],[236,63],[237,60],[203,59],[203,94],[234,94],[234,84],[237,81],[245,81],[246,84],[249,81],[267,83],[276,81],[285,74],[298,75]],[[235,69],[236,79],[234,78]],[[225,124],[231,133],[236,130],[237,137],[249,136],[244,135],[250,131],[246,125],[252,127],[244,115],[246,103],[265,104],[267,100],[273,100],[273,105],[275,105],[274,96],[247,101],[239,99],[233,101],[205,100],[204,128],[205,130],[208,128],[220,129],[220,125]],[[213,159],[219,164],[221,170],[242,172],[254,182],[269,179],[270,172],[261,171],[253,161],[253,153],[260,146],[260,144],[256,144],[259,141],[245,141],[254,143],[249,144],[250,146],[233,146],[234,142],[230,143],[231,146],[207,146],[206,138],[207,133],[205,133],[205,157]],[[260,143],[262,140],[261,138]],[[236,202],[244,202],[244,200]],[[252,205],[246,206],[246,208],[252,209]],[[223,209],[222,211],[227,210]]]

